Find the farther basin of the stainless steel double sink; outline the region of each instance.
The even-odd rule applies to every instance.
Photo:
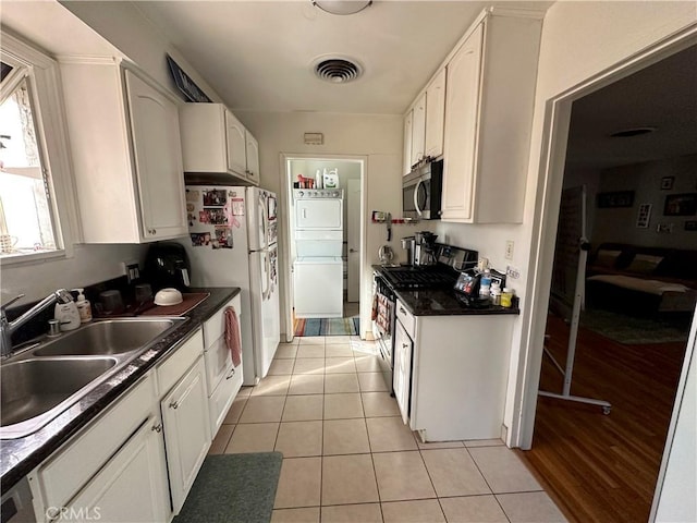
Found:
[[[35,356],[99,356],[137,351],[178,325],[182,318],[109,319],[88,324],[48,341]]]

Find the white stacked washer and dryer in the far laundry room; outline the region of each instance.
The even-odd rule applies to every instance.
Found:
[[[343,316],[343,190],[293,190],[296,318]]]

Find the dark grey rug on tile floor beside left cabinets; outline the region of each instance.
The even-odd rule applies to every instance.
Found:
[[[269,523],[283,454],[208,455],[173,523]]]

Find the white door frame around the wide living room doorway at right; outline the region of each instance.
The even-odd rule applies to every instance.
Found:
[[[539,314],[539,312],[547,311],[549,303],[572,102],[696,42],[697,26],[692,25],[655,44],[650,48],[623,60],[614,66],[587,78],[546,102],[539,162],[540,183],[538,184],[536,194],[535,218],[530,242],[530,269],[528,272],[530,276],[527,281],[527,289],[530,289],[530,292],[525,296],[523,307],[522,364],[517,369],[513,403],[516,409],[516,414],[512,419],[509,434],[509,441],[512,447],[530,449],[533,445],[537,391],[547,324],[547,315]],[[693,319],[693,323],[695,321],[697,321],[697,312]],[[693,342],[687,345],[685,362],[690,361],[694,352],[695,343],[693,340]],[[685,387],[685,380],[686,373],[683,372],[678,384],[678,391]],[[671,418],[669,435],[673,434],[677,418],[676,409],[678,406],[676,402]],[[671,443],[672,440],[669,437],[664,449],[664,458],[670,452]],[[656,492],[660,492],[662,487],[664,467],[665,459],[661,464]]]

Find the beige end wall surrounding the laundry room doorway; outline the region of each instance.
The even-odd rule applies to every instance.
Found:
[[[279,194],[282,193],[281,177],[285,175],[284,166],[280,165],[281,154],[318,155],[335,158],[360,157],[367,158],[364,177],[364,198],[366,208],[364,219],[369,221],[370,210],[380,209],[398,216],[402,210],[400,190],[401,150],[402,150],[402,118],[396,115],[362,115],[362,114],[330,114],[330,113],[269,113],[269,112],[239,112],[240,120],[259,137],[259,162],[261,171],[261,186]],[[305,145],[303,134],[316,132],[325,134],[321,146]],[[279,217],[286,223],[288,209],[280,206]],[[288,231],[282,230],[280,242],[281,273],[289,275],[289,260],[284,253],[288,251]],[[379,263],[378,248],[386,243],[384,226],[369,223],[366,234],[366,253],[364,264],[369,267]],[[393,239],[391,246],[396,252],[399,236]],[[362,325],[369,325],[369,302],[371,294],[372,275],[367,270],[363,275],[360,293]],[[285,325],[285,301],[290,295],[290,282],[281,282],[281,331],[290,332]]]

